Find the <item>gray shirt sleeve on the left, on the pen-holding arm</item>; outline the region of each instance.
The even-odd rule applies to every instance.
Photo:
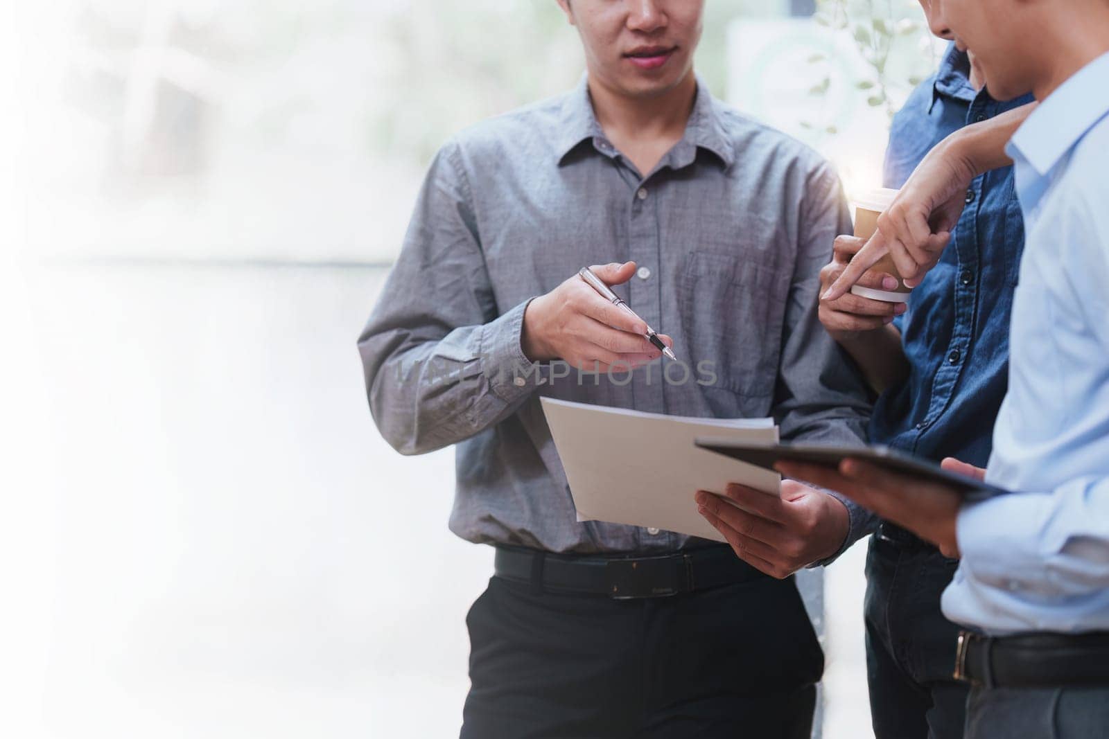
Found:
[[[520,346],[527,301],[499,312],[457,143],[424,182],[404,247],[358,338],[370,412],[404,454],[510,415],[541,381]]]

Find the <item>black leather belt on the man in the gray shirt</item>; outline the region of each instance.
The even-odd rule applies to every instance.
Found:
[[[664,555],[567,555],[498,546],[498,577],[551,593],[607,595],[615,599],[658,598],[769,577],[729,546]]]

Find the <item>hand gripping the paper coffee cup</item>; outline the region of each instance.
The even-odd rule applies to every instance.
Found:
[[[863,248],[865,242],[855,236],[836,236],[832,250],[832,261],[821,269],[821,291],[827,290],[843,274],[852,258]],[[863,287],[877,290],[897,289],[897,278],[893,275],[867,273],[858,279]],[[865,331],[873,331],[893,321],[905,312],[904,302],[872,300],[849,291],[835,300],[822,300],[818,308],[821,324],[838,342],[849,341]]]

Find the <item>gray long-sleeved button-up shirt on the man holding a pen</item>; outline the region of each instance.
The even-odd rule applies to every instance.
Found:
[[[436,156],[358,341],[374,418],[405,454],[457,444],[450,527],[466,540],[682,547],[689,537],[576,520],[539,397],[773,415],[785,439],[857,443],[867,393],[816,317],[820,269],[849,232],[832,168],[703,84],[685,135],[642,176],[606,138],[583,81]],[[615,292],[673,337],[685,368],[657,361],[610,379],[529,362],[528,301],[582,266],[628,259],[640,269]]]

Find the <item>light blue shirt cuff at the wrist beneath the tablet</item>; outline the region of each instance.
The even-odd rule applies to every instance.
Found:
[[[1039,552],[1051,496],[1010,493],[965,503],[955,520],[959,556],[975,579],[1008,587],[1013,581],[1045,577]]]

